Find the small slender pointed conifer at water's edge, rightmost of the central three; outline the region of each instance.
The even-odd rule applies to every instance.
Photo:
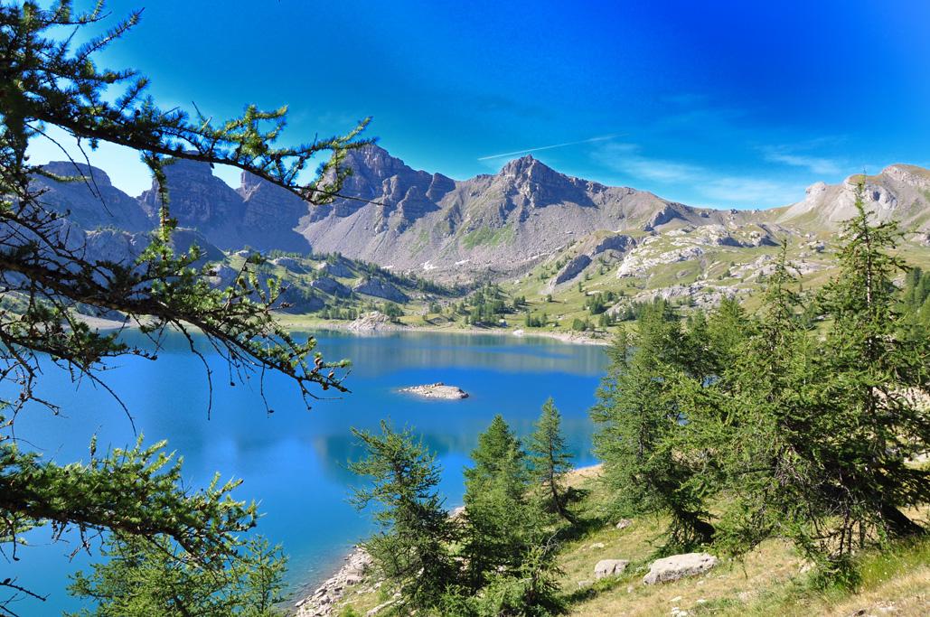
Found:
[[[562,415],[551,398],[542,405],[527,451],[534,481],[548,494],[551,508],[571,522],[573,518],[565,504],[566,489],[562,486],[562,479],[572,468],[572,455],[565,450]]]

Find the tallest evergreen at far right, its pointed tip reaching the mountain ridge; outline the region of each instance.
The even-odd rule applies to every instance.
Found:
[[[824,289],[821,304],[830,329],[821,356],[830,379],[817,403],[844,414],[842,458],[832,489],[842,496],[843,523],[836,550],[849,552],[857,537],[902,535],[920,528],[901,511],[930,501],[930,472],[906,462],[930,442],[930,414],[913,397],[930,393],[930,341],[902,336],[895,278],[905,264],[895,255],[894,221],[872,224],[857,194],[857,216],[844,225],[840,274]]]

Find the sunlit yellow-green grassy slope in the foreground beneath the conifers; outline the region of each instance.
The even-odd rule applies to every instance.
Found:
[[[885,555],[869,552],[860,556],[863,581],[855,593],[814,591],[807,583],[808,575],[801,573],[801,558],[790,545],[777,540],[764,543],[742,560],[723,560],[703,576],[643,584],[650,555],[661,542],[663,521],[637,519],[630,527],[617,530],[616,521],[604,514],[607,494],[599,470],[578,470],[571,481],[589,494],[578,505],[586,531],[565,542],[558,557],[570,615],[669,615],[676,607],[689,615],[739,617],[930,614],[930,540],[897,545]],[[928,514],[924,509],[919,516],[926,519]],[[631,564],[623,575],[591,584],[594,564],[605,558],[629,559]],[[353,587],[340,610],[351,606],[364,615],[383,602],[384,593],[371,590],[372,583]]]

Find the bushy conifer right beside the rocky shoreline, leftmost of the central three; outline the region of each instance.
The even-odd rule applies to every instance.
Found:
[[[457,538],[438,492],[441,470],[435,455],[410,430],[394,432],[384,421],[380,434],[352,429],[365,458],[351,464],[370,480],[352,495],[358,509],[376,506],[379,527],[365,543],[379,570],[410,610],[430,609],[455,587],[458,570],[450,554]]]

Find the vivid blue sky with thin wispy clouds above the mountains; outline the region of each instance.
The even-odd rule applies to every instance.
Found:
[[[294,141],[371,115],[382,147],[455,178],[540,149],[606,184],[767,207],[819,179],[930,166],[926,0],[109,7],[145,11],[103,63],[149,75],[163,107],[193,101],[222,117],[286,103]],[[131,194],[150,182],[115,148],[95,164]]]

